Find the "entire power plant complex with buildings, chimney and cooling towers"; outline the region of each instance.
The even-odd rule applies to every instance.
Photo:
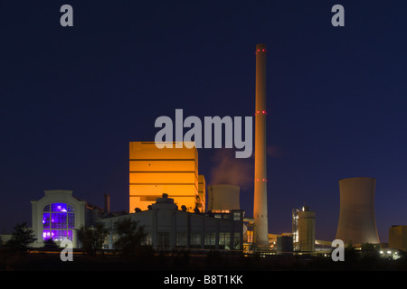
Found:
[[[291,211],[291,231],[281,234],[269,231],[266,45],[256,45],[255,55],[253,216],[245,216],[241,210],[240,186],[206,183],[204,174],[198,170],[198,151],[194,145],[158,148],[155,142],[129,142],[128,212],[112,212],[108,194],[100,208],[74,197],[72,191],[45,191],[40,200],[31,202],[37,238],[34,247],[42,247],[49,238],[56,241],[68,238],[75,247],[80,247],[78,229],[101,223],[109,228],[104,248],[110,249],[117,238],[112,233],[114,223],[129,217],[144,226],[146,242],[154,248],[258,250],[264,254],[315,254],[331,250],[332,240],[316,239],[317,213],[305,205]],[[336,239],[345,244],[380,244],[374,215],[375,183],[369,177],[339,181]],[[406,232],[407,226],[393,226],[390,247],[407,249]]]

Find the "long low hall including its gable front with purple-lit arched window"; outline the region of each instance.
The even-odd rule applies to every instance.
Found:
[[[37,240],[33,247],[43,247],[43,241],[69,239],[73,247],[80,247],[78,230],[97,223],[109,229],[104,247],[114,248],[114,225],[118,219],[138,221],[147,233],[146,243],[153,248],[195,248],[241,250],[243,240],[243,210],[228,213],[204,214],[180,210],[174,199],[166,194],[156,199],[149,210],[131,214],[109,211],[109,198],[105,195],[105,208],[91,205],[72,196],[72,191],[44,191],[40,200],[33,200],[33,232]]]

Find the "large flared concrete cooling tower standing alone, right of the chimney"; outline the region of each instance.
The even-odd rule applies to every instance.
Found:
[[[374,178],[339,181],[340,210],[336,238],[345,244],[380,243],[374,217]]]

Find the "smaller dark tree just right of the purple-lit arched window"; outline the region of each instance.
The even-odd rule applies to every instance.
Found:
[[[78,239],[86,253],[96,255],[102,249],[103,242],[108,234],[109,230],[103,224],[98,223],[95,227],[80,227]]]

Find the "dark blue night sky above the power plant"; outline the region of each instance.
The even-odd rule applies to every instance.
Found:
[[[405,0],[44,3],[0,4],[1,233],[31,225],[30,200],[45,190],[101,207],[107,192],[112,210],[128,210],[128,142],[154,141],[156,118],[176,108],[254,117],[258,43],[268,46],[270,232],[289,232],[305,203],[316,238],[333,240],[338,181],[359,176],[377,179],[381,241],[407,225]],[[73,27],[60,24],[64,4]],[[331,24],[336,4],[345,27]],[[251,217],[253,159],[198,154],[207,184],[237,177]]]

